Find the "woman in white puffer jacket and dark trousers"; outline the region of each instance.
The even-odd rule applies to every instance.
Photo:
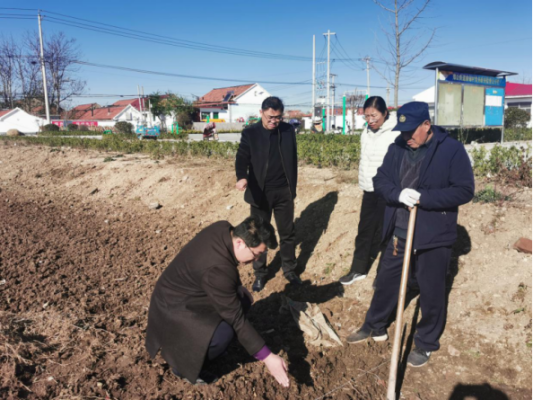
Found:
[[[363,199],[352,266],[350,272],[339,279],[343,285],[365,279],[380,252],[386,202],[375,194],[373,178],[384,161],[389,145],[400,134],[393,130],[397,121],[390,118],[382,97],[369,97],[363,105],[363,111],[367,121],[367,126],[361,134],[359,170],[359,186],[363,190]]]

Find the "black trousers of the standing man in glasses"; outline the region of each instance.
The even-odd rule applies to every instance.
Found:
[[[274,212],[276,228],[280,236],[280,258],[282,270],[287,275],[297,268],[295,257],[295,205],[288,187],[279,189],[266,189],[259,207],[251,206],[250,214],[259,215],[265,221],[271,221]],[[253,264],[256,277],[263,278],[267,275],[267,253],[265,252]]]

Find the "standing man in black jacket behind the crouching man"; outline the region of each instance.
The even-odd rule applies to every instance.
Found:
[[[282,122],[284,103],[268,97],[261,105],[261,121],[243,130],[237,150],[236,189],[245,191],[251,215],[274,219],[280,235],[282,270],[292,285],[302,281],[295,273],[294,199],[297,196],[297,139],[295,129]],[[267,280],[267,254],[254,261],[256,281],[252,289],[259,292]]]

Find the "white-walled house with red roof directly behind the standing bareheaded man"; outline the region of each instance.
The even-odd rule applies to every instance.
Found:
[[[257,83],[213,89],[193,103],[201,121],[245,122],[259,116],[261,103],[271,96]]]

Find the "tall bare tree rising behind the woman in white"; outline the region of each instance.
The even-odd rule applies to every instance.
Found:
[[[381,47],[385,50],[387,57],[380,57],[385,64],[385,70],[381,71],[375,65],[373,68],[390,84],[394,89],[394,104],[399,105],[399,83],[403,69],[417,60],[430,46],[436,34],[436,28],[432,29],[427,39],[417,32],[415,26],[419,22],[423,13],[427,9],[431,0],[373,0],[386,12],[392,14],[394,21],[389,29],[382,29],[385,34],[386,43]],[[387,2],[387,3],[386,3]]]

